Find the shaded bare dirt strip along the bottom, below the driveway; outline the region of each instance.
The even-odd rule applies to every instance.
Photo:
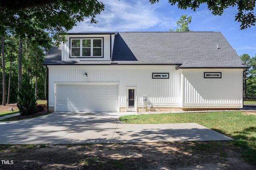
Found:
[[[134,144],[0,145],[1,170],[256,169],[231,141]]]

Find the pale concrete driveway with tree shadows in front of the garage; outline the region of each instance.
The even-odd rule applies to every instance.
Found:
[[[121,115],[135,113],[62,113],[0,122],[0,144],[80,144],[232,140],[197,123],[134,125]]]

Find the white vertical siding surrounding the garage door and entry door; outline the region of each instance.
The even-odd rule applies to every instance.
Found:
[[[143,106],[143,96],[154,107],[181,107],[181,70],[177,66],[48,66],[49,107],[55,105],[56,83],[118,84],[119,107],[126,107],[126,89],[136,87],[137,107]],[[84,77],[87,73],[88,77]],[[152,73],[170,73],[169,79],[152,79]]]

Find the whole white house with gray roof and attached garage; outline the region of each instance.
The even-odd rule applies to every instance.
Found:
[[[243,107],[247,69],[220,32],[70,33],[44,60],[49,111]]]

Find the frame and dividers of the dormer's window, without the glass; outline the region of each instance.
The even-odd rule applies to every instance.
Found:
[[[72,56],[72,40],[80,40],[80,56]],[[82,50],[83,48],[86,47],[82,47],[82,40],[91,40],[91,55],[90,56],[82,56]],[[93,40],[101,40],[101,47],[93,47]],[[104,38],[100,37],[100,38],[70,38],[70,58],[103,58],[103,43],[104,43]],[[73,47],[75,48],[75,47]],[[101,55],[100,56],[93,56],[93,49],[94,48],[100,48],[101,49]]]

